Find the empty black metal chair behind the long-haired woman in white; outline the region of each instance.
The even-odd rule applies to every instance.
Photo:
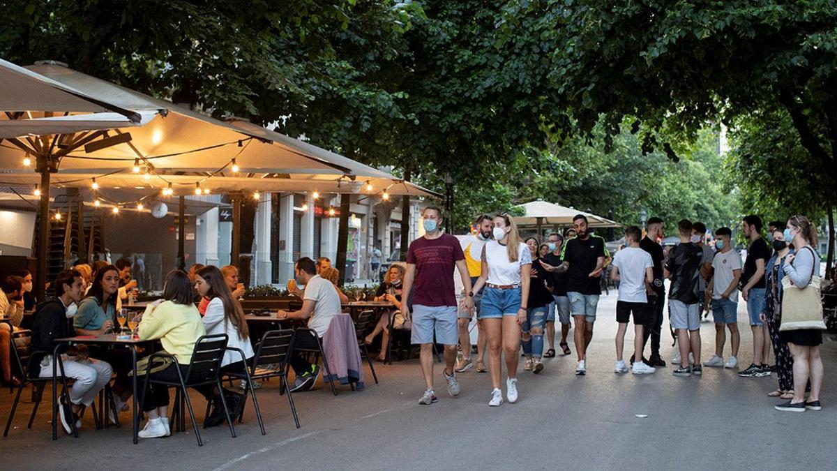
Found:
[[[253,358],[249,361],[248,368],[241,372],[226,372],[230,378],[247,381],[247,386],[250,390],[250,396],[253,397],[253,406],[256,411],[256,417],[259,418],[259,427],[261,427],[262,435],[264,432],[264,422],[261,417],[261,410],[259,409],[259,401],[256,400],[256,393],[253,387],[253,381],[267,380],[270,378],[280,379],[280,395],[288,393],[288,402],[290,404],[290,412],[294,416],[294,423],[296,428],[300,427],[300,419],[296,415],[296,406],[294,405],[294,398],[291,396],[288,385],[288,370],[290,370],[290,354],[294,349],[294,330],[269,330],[262,335],[259,344],[256,345],[256,352]],[[244,352],[239,351],[242,360],[244,360]],[[247,363],[246,360],[244,360]],[[267,369],[266,366],[275,365],[278,368]],[[239,422],[244,417],[244,407],[241,409]]]

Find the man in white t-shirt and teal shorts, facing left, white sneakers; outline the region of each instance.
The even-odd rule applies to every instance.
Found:
[[[741,335],[738,334],[738,279],[741,278],[741,256],[732,250],[732,230],[721,227],[715,231],[715,246],[718,252],[712,259],[713,275],[706,286],[706,292],[712,296],[712,317],[715,318],[715,356],[707,361],[705,366],[723,366],[736,368],[738,366],[738,345]],[[724,344],[727,333],[724,325],[730,331],[732,356],[724,364]]]

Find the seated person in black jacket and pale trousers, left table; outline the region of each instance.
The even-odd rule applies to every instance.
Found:
[[[85,282],[80,272],[64,270],[55,278],[54,287],[55,298],[40,303],[33,314],[32,365],[40,365],[39,376],[42,378],[53,375],[52,352],[59,344],[56,339],[74,336],[69,318],[76,312],[75,303],[84,296]],[[69,402],[62,396],[59,407],[61,426],[64,432],[72,433],[71,424],[78,425],[80,411],[99,396],[113,370],[105,361],[85,358],[84,349],[68,350],[61,360],[64,375],[75,380],[69,388]]]

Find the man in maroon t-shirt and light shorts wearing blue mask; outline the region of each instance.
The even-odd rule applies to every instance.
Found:
[[[413,308],[413,344],[420,344],[419,362],[421,363],[427,390],[419,399],[419,404],[432,404],[439,399],[433,389],[433,344],[444,344],[444,379],[448,382],[450,396],[460,393],[460,385],[454,377],[456,362],[456,344],[459,341],[457,329],[456,294],[454,278],[451,274],[454,266],[462,277],[465,287],[465,308],[473,311],[474,292],[471,292],[470,276],[465,264],[460,241],[453,235],[444,234],[442,210],[428,206],[422,212],[424,217],[424,237],[410,244],[407,252],[407,275],[404,277],[402,298],[410,299],[410,291],[415,285],[412,298]],[[401,308],[404,318],[410,318],[410,307],[403,303]]]

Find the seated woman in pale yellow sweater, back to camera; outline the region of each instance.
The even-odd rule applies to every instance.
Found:
[[[140,339],[160,339],[162,348],[177,360],[166,369],[151,373],[155,380],[177,381],[177,369],[182,375],[187,374],[192,352],[198,339],[206,334],[198,308],[193,302],[192,282],[186,273],[172,270],[166,276],[162,299],[146,306],[139,327]],[[144,375],[144,371],[138,371]],[[144,380],[140,377],[138,380]],[[213,386],[203,386],[198,391],[211,399]],[[148,422],[140,432],[142,438],[168,437],[171,428],[168,424],[168,386],[151,384],[145,391],[142,411],[148,415]]]

